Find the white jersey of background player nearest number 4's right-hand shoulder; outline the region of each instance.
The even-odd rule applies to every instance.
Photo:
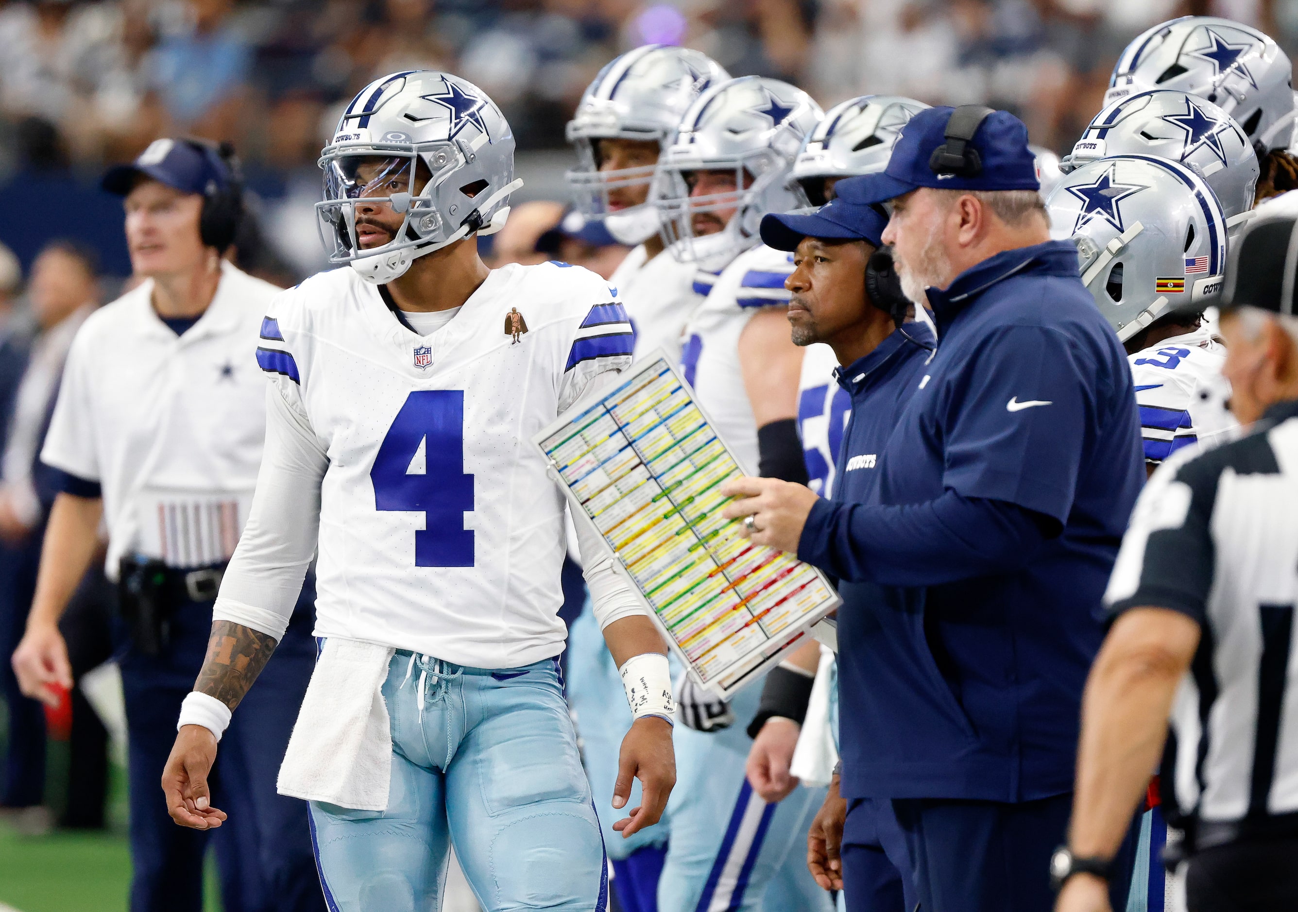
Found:
[[[704,302],[704,296],[694,291],[697,272],[694,263],[679,262],[667,250],[648,259],[641,244],[609,279],[636,331],[637,361],[657,348],[667,353],[670,362],[680,361],[685,322]]]

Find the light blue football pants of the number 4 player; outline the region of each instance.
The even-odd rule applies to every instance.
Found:
[[[485,912],[604,912],[607,863],[558,663],[484,671],[397,653],[387,811],[312,802],[331,912],[441,907],[447,855]]]

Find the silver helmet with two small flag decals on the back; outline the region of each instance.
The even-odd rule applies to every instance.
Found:
[[[1225,214],[1207,183],[1154,156],[1101,158],[1046,201],[1050,234],[1077,246],[1081,280],[1123,341],[1221,293]]]

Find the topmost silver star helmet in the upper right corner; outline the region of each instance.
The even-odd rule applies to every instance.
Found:
[[[1289,57],[1266,34],[1232,19],[1185,16],[1127,45],[1108,79],[1105,105],[1153,88],[1189,92],[1233,117],[1260,156],[1289,145],[1292,77]]]

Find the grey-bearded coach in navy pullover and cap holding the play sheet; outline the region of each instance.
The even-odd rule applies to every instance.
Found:
[[[927,912],[1051,903],[1094,610],[1144,476],[1125,353],[1049,240],[1027,140],[1006,112],[932,108],[840,184],[890,205],[883,241],[938,331],[887,444],[840,455],[877,475],[864,502],[723,488],[758,544],[877,586],[839,614],[840,787],[892,799]]]

